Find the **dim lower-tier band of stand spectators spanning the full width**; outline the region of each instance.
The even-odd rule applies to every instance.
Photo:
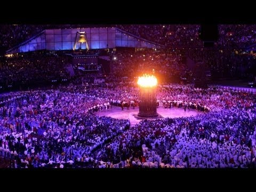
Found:
[[[0,60],[2,71],[0,84],[2,87],[9,88],[10,86],[13,89],[15,87],[15,90],[20,90],[23,87],[30,87],[31,84],[52,84],[53,81],[61,82],[62,79],[69,81],[81,77],[90,78],[90,82],[93,82],[97,76],[106,78],[106,81],[110,82],[114,78],[122,79],[122,81],[128,78],[131,81],[143,73],[153,73],[158,77],[159,82],[177,83],[182,81],[182,77],[186,77],[187,82],[191,83],[197,78],[198,71],[204,75],[206,75],[205,71],[209,71],[212,80],[230,78],[251,81],[256,76],[256,60],[253,55],[232,50],[175,48],[134,51],[117,49],[107,54],[110,57],[110,74],[103,73],[102,65],[75,66],[72,64],[71,55],[66,53],[24,53],[12,58],[2,58]],[[73,68],[71,69],[74,70],[73,75],[69,68]],[[91,72],[86,70],[91,70]]]

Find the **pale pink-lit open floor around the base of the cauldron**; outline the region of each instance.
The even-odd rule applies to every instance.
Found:
[[[129,110],[127,108],[124,108],[124,110],[122,110],[121,107],[112,106],[111,109],[102,110],[95,114],[97,114],[99,116],[110,116],[113,118],[129,118],[130,122],[131,122],[131,126],[134,126],[135,124],[137,124],[141,121],[139,119],[136,119],[133,116],[138,113],[139,113],[139,107],[135,107],[135,109],[130,107]],[[177,107],[166,108],[166,109],[164,107],[158,107],[157,113],[159,115],[163,116],[164,118],[166,118],[166,117],[170,117],[170,118],[189,117],[189,116],[193,116],[193,115],[195,116],[198,114],[204,114],[203,112],[197,111],[194,109],[190,109],[190,110],[187,109],[186,111],[184,111],[183,108],[177,108]]]

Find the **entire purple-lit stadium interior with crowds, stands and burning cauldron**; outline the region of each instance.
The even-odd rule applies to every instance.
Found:
[[[0,168],[254,168],[256,25],[1,25]]]

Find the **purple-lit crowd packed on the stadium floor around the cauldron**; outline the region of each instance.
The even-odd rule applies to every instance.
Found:
[[[129,119],[94,115],[138,101],[134,82],[3,94],[0,155],[11,167],[255,166],[255,93],[173,84],[157,93],[160,106],[205,114],[131,127]]]

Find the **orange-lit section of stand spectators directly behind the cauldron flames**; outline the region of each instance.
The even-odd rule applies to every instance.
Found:
[[[111,70],[116,77],[138,77],[143,73],[154,73],[158,79],[180,77],[187,72],[183,50],[116,51],[111,56]]]

